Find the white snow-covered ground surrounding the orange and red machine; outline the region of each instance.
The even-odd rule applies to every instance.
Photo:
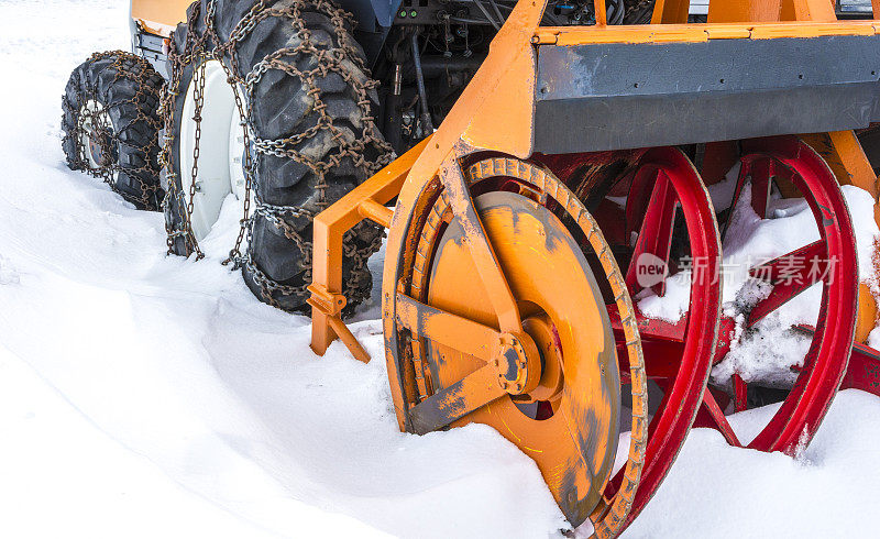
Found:
[[[0,1],[0,537],[559,537],[537,468],[492,429],[399,433],[383,361],[316,358],[308,320],[257,302],[219,241],[166,257],[160,215],[67,170],[64,84],[128,48],[127,14]],[[354,330],[381,358],[370,314]],[[796,460],[695,430],[627,536],[871,535],[878,457],[880,399],[855,391]]]

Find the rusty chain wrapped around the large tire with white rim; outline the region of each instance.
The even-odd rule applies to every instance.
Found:
[[[305,300],[310,296],[310,294],[306,290],[306,286],[311,282],[311,241],[309,238],[304,238],[302,234],[293,226],[285,220],[287,218],[301,218],[305,217],[311,221],[316,212],[311,212],[309,210],[305,210],[297,207],[292,206],[273,206],[266,204],[262,200],[262,197],[258,195],[258,190],[256,190],[256,208],[254,208],[253,213],[250,211],[250,202],[251,202],[251,190],[255,189],[256,186],[256,175],[255,175],[255,167],[256,167],[256,160],[252,155],[252,146],[258,153],[264,155],[274,155],[278,157],[286,157],[296,161],[297,163],[301,163],[308,166],[312,173],[318,177],[318,183],[316,185],[316,190],[318,191],[318,200],[317,205],[320,209],[326,208],[329,206],[327,201],[327,183],[324,179],[324,175],[328,170],[332,167],[339,166],[343,158],[350,157],[352,158],[354,165],[361,168],[367,177],[372,176],[378,169],[381,169],[386,164],[391,163],[393,160],[393,150],[389,144],[387,144],[384,139],[382,138],[378,128],[375,123],[375,118],[372,117],[372,101],[370,100],[369,91],[374,89],[378,82],[374,80],[367,80],[366,82],[362,82],[356,80],[349,69],[344,66],[345,62],[350,62],[354,64],[358,68],[361,69],[364,74],[366,74],[367,78],[370,77],[370,72],[366,68],[363,58],[359,54],[359,52],[348,42],[349,32],[346,30],[346,25],[353,28],[354,25],[354,18],[344,11],[341,8],[333,6],[330,1],[327,0],[296,0],[293,2],[292,6],[286,8],[267,8],[267,0],[261,0],[256,2],[251,10],[242,16],[239,23],[230,33],[230,38],[227,42],[222,42],[219,38],[217,33],[217,29],[215,28],[215,10],[216,10],[216,0],[210,0],[207,6],[205,23],[206,23],[206,32],[202,33],[200,36],[194,36],[193,29],[196,28],[196,22],[199,18],[199,11],[201,8],[200,3],[193,4],[190,10],[189,16],[187,19],[187,35],[186,35],[186,43],[184,45],[183,53],[177,51],[176,42],[174,36],[172,35],[170,46],[168,51],[168,59],[170,66],[170,81],[166,87],[165,92],[163,94],[162,99],[162,107],[161,113],[164,119],[165,123],[165,140],[163,141],[163,151],[161,154],[161,165],[165,170],[166,177],[168,178],[168,193],[166,195],[166,199],[164,205],[167,207],[168,201],[172,197],[177,197],[178,202],[183,202],[183,194],[178,191],[177,183],[175,182],[176,175],[172,168],[172,146],[174,145],[174,135],[173,135],[173,125],[174,125],[174,99],[179,95],[180,91],[180,78],[182,78],[182,70],[184,65],[189,65],[193,62],[200,61],[205,62],[208,59],[217,59],[223,66],[223,69],[227,72],[228,82],[234,89],[235,95],[235,105],[239,110],[239,117],[242,119],[241,125],[242,131],[244,133],[244,173],[245,173],[245,199],[244,199],[244,215],[240,221],[241,227],[239,229],[239,235],[237,238],[235,244],[229,253],[229,257],[224,260],[222,263],[227,265],[229,263],[233,264],[233,270],[238,270],[244,266],[248,272],[251,274],[252,278],[255,283],[260,286],[262,298],[265,302],[277,307],[283,308],[278,301],[274,297],[274,293],[280,293],[285,296],[290,296],[297,299],[298,304],[305,304]],[[327,15],[336,30],[336,37],[339,46],[331,50],[321,50],[315,46],[311,43],[311,32],[306,28],[306,23],[302,19],[302,9],[309,8],[315,11],[318,11],[324,15]],[[294,26],[298,31],[298,36],[300,37],[301,42],[296,47],[286,47],[280,51],[276,51],[274,53],[268,54],[262,61],[257,62],[253,69],[248,73],[243,74],[241,68],[239,67],[238,54],[237,54],[237,45],[246,37],[253,29],[263,20],[271,18],[271,16],[279,16],[279,18],[287,18],[292,21]],[[212,51],[208,52],[208,42],[213,43],[216,46]],[[284,57],[296,57],[297,54],[309,54],[311,55],[316,62],[317,67],[310,69],[308,72],[302,72],[296,68],[295,65],[288,64],[283,61]],[[229,66],[223,62],[223,57],[229,57]],[[204,65],[204,64],[202,64]],[[263,75],[271,70],[276,69],[280,70],[288,76],[298,77],[306,87],[309,88],[308,95],[315,100],[314,110],[318,111],[320,118],[317,124],[310,128],[302,133],[299,133],[294,136],[280,139],[280,140],[263,140],[258,139],[253,135],[255,132],[252,118],[253,118],[253,102],[254,102],[254,89],[255,85],[260,81]],[[198,70],[198,69],[197,69]],[[326,108],[327,106],[321,101],[321,91],[317,85],[317,78],[328,75],[329,73],[336,73],[340,77],[342,77],[345,82],[350,85],[351,88],[354,89],[358,96],[358,106],[361,108],[362,111],[362,122],[363,129],[361,132],[360,140],[355,140],[353,142],[348,142],[344,140],[344,133],[341,132],[337,127],[333,125],[331,117],[327,113]],[[196,79],[196,75],[194,74],[194,80]],[[199,85],[204,85],[204,77],[201,77]],[[248,107],[246,110],[242,103],[242,99],[240,96],[240,88],[248,95]],[[199,87],[201,89],[201,87]],[[201,97],[201,96],[200,96]],[[197,131],[200,130],[200,111],[201,111],[201,102],[197,103],[196,108],[196,123],[197,123]],[[336,142],[338,147],[340,148],[339,152],[330,155],[330,157],[326,162],[317,161],[310,158],[301,153],[297,152],[296,150],[289,147],[298,142],[301,142],[306,139],[315,136],[320,131],[327,130],[331,134],[331,139]],[[251,144],[251,139],[253,138],[253,144]],[[194,170],[193,170],[193,184],[190,186],[189,191],[189,200],[186,204],[177,204],[177,208],[180,211],[178,215],[177,222],[182,223],[183,227],[179,229],[175,229],[172,227],[170,223],[166,221],[166,231],[168,233],[168,254],[173,253],[174,242],[177,238],[184,238],[185,245],[187,252],[189,254],[195,253],[197,260],[204,256],[201,250],[199,249],[198,241],[196,241],[195,234],[193,233],[193,228],[189,221],[189,215],[193,211],[193,199],[195,197],[195,186],[196,186],[196,178],[198,173],[198,145],[199,140],[197,138],[196,145],[194,148]],[[364,158],[364,151],[367,148],[369,145],[373,145],[378,151],[378,156],[375,161],[366,161]],[[186,208],[186,210],[184,210]],[[245,251],[245,254],[241,253],[241,246],[243,244],[245,238],[245,231],[248,237],[248,244],[251,244],[253,238],[253,221],[256,216],[263,216],[268,222],[271,222],[276,229],[278,229],[286,238],[294,241],[297,248],[302,253],[301,257],[301,270],[304,271],[304,285],[301,286],[289,286],[277,283],[273,280],[268,275],[262,272],[256,264],[254,263],[250,252]],[[366,294],[363,290],[358,288],[358,283],[361,282],[363,278],[372,278],[370,276],[370,270],[366,266],[366,261],[374,252],[376,252],[382,245],[382,239],[384,233],[381,235],[376,235],[374,240],[366,246],[356,249],[353,245],[353,242],[350,241],[353,239],[354,235],[364,231],[365,228],[373,227],[372,224],[362,221],[352,230],[350,230],[345,234],[345,241],[343,242],[344,245],[344,254],[349,257],[351,262],[351,271],[349,274],[349,279],[346,280],[345,285],[350,290],[350,296],[356,295],[356,297],[349,297],[349,301],[360,301],[365,299]]]

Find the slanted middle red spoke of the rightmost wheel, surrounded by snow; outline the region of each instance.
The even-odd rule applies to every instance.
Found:
[[[829,261],[826,253],[825,242],[820,240],[749,270],[751,277],[770,283],[773,289],[752,308],[748,326],[754,326],[802,292],[822,282],[828,274]]]

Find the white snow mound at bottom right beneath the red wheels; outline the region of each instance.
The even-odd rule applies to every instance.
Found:
[[[774,406],[733,417],[763,426]],[[735,422],[737,419],[740,421]],[[880,399],[842,392],[798,460],[694,429],[628,538],[877,537]]]

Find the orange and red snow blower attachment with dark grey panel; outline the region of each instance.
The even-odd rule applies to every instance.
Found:
[[[880,22],[827,0],[712,0],[707,23],[688,7],[619,26],[596,0],[595,24],[548,26],[552,7],[520,1],[433,135],[315,220],[312,349],[340,338],[369,361],[341,320],[342,234],[389,229],[400,429],[493,426],[597,537],[645,507],[693,425],[793,453],[842,382],[880,393],[854,226],[877,202],[854,130],[880,121]],[[778,227],[803,241],[750,251]],[[727,419],[770,403],[758,432]]]

